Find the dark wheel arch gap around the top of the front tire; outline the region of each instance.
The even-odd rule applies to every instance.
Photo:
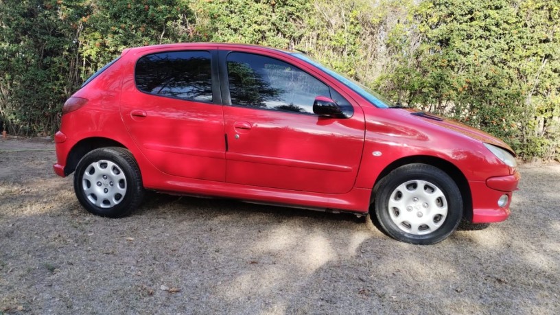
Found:
[[[377,183],[380,183],[380,180],[382,178],[387,176],[390,172],[393,172],[393,170],[397,169],[398,167],[407,164],[412,164],[412,163],[422,163],[422,164],[432,165],[434,167],[439,168],[447,175],[449,175],[456,183],[457,187],[459,188],[461,197],[463,198],[463,218],[469,222],[472,221],[472,216],[473,216],[472,195],[471,195],[471,188],[469,187],[469,182],[467,178],[465,177],[463,172],[461,172],[459,168],[456,167],[456,165],[435,156],[425,156],[425,155],[406,156],[401,159],[398,159],[397,161],[393,161],[393,163],[387,165],[375,180],[375,184],[373,185],[373,190],[371,194],[371,202],[373,203],[373,200],[375,200]]]

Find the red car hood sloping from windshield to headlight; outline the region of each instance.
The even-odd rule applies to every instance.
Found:
[[[509,152],[515,155],[515,152],[513,152],[513,149],[511,149],[511,147],[507,143],[480,129],[476,129],[471,126],[461,124],[460,122],[454,121],[452,119],[446,119],[445,117],[433,115],[431,113],[426,113],[421,110],[412,109],[412,108],[406,108],[405,110],[410,115],[413,115],[417,117],[417,119],[421,119],[429,124],[434,124],[441,128],[452,130],[456,133],[465,135],[467,137],[476,139],[478,141],[489,143],[491,145],[496,145],[500,148],[504,148],[505,150],[508,150]]]

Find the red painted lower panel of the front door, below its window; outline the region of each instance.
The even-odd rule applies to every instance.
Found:
[[[227,106],[224,120],[228,183],[325,194],[354,187],[364,145],[361,110],[351,119],[326,119]],[[242,120],[250,130],[236,130]]]

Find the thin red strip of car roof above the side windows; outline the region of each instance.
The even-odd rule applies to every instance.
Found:
[[[255,49],[257,51],[278,51],[284,54],[298,54],[296,51],[290,51],[286,49],[279,49],[275,47],[266,47],[261,45],[252,45],[252,44],[239,44],[239,43],[176,43],[176,44],[163,44],[163,45],[149,45],[149,46],[141,46],[141,47],[132,47],[127,48],[122,51],[122,55],[132,52],[134,54],[141,53],[143,51],[151,51],[151,50],[165,50],[165,49],[180,49],[180,48],[201,48],[205,47],[205,49],[235,49],[235,48],[250,48]]]

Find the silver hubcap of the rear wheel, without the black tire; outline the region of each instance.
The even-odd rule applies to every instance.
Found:
[[[126,177],[119,165],[107,160],[96,161],[86,167],[82,189],[93,205],[115,207],[126,195]]]

